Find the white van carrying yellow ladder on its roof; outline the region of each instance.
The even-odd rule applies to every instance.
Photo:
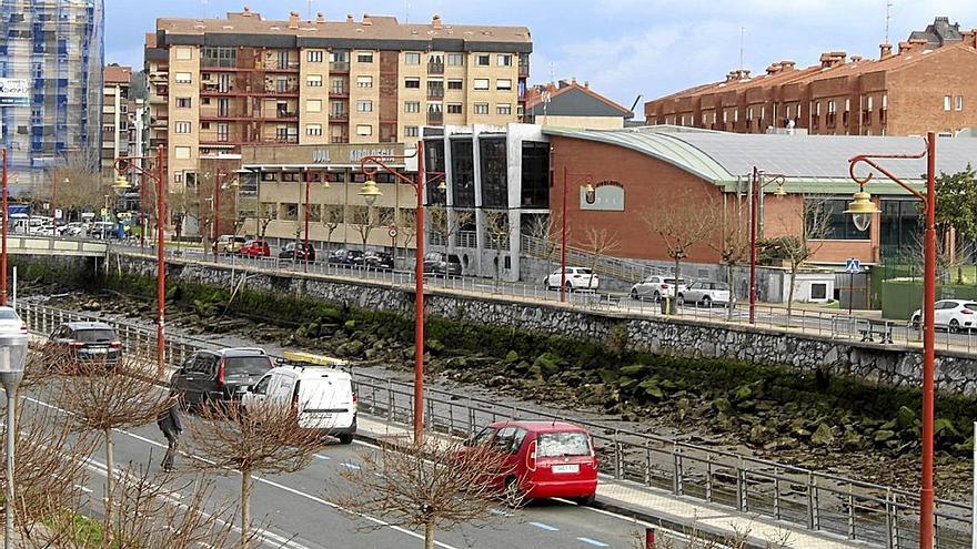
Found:
[[[350,374],[318,364],[286,363],[270,369],[242,396],[241,405],[246,409],[255,403],[291,403],[300,427],[350,444],[356,434],[356,400]]]

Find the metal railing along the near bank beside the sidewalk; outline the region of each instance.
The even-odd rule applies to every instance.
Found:
[[[131,321],[115,322],[27,302],[19,303],[18,309],[34,334],[49,334],[64,322],[100,321],[113,326],[127,350],[154,346],[155,332]],[[168,365],[179,366],[194,350],[219,346],[171,335],[167,340]],[[352,374],[361,413],[399,426],[412,424],[411,384],[371,376],[355,367]],[[666,490],[767,517],[789,528],[827,532],[887,549],[918,546],[919,500],[915,492],[430,386],[424,398],[424,420],[431,431],[467,438],[500,420],[574,421],[590,430],[600,471],[639,494]],[[938,499],[935,520],[938,549],[970,548],[969,505]]]

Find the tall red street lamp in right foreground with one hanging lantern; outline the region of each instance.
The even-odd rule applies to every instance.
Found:
[[[889,171],[879,166],[875,159],[921,159],[926,157],[926,194],[906,184]],[[872,216],[879,213],[872,202],[872,195],[865,192],[865,184],[872,181],[873,173],[859,177],[855,175],[855,165],[867,164],[897,183],[899,186],[923,201],[925,210],[924,227],[924,266],[923,266],[923,481],[919,489],[919,548],[933,548],[933,407],[934,407],[934,363],[936,362],[936,322],[934,306],[936,303],[936,133],[926,134],[926,149],[919,154],[859,154],[848,161],[848,174],[858,184],[858,192],[853,196],[845,213],[852,214],[856,228],[865,231],[872,223]]]

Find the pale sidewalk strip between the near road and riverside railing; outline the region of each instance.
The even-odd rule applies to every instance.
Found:
[[[410,428],[387,425],[363,416],[359,417],[357,426],[356,435],[366,440],[409,438],[413,434]],[[768,543],[779,547],[776,542],[785,535],[788,535],[786,547],[798,549],[875,547],[603,476],[597,485],[594,507],[685,533],[698,531],[725,538],[748,532],[748,549],[765,549]]]

